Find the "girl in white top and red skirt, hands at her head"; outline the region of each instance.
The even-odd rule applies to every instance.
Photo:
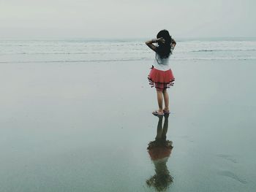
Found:
[[[154,43],[157,43],[157,46]],[[157,116],[169,114],[169,95],[167,88],[173,86],[173,81],[175,80],[169,66],[169,56],[176,46],[176,41],[170,37],[167,30],[162,30],[157,34],[157,39],[147,41],[146,45],[156,53],[154,66],[152,66],[151,72],[148,74],[148,80],[151,87],[157,89],[159,110],[152,113]],[[165,101],[165,108],[162,107],[163,100]]]

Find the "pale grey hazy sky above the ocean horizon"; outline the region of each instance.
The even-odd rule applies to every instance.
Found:
[[[255,0],[0,0],[0,38],[255,37]]]

